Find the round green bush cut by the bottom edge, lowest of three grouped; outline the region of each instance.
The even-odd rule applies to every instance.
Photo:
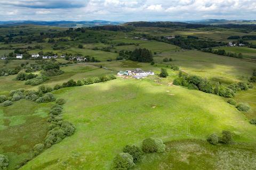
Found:
[[[120,153],[114,158],[113,168],[118,170],[131,169],[135,164],[133,158],[128,153]]]

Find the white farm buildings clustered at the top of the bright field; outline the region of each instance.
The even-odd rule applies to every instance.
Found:
[[[152,71],[143,71],[140,68],[137,68],[135,70],[126,70],[126,71],[119,71],[117,73],[118,76],[131,76],[135,79],[141,79],[145,78],[148,75],[155,75]]]

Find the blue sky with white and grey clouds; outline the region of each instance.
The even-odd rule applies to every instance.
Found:
[[[0,21],[256,20],[256,0],[0,0]]]

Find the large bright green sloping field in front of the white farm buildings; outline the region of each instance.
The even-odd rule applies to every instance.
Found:
[[[140,146],[147,137],[205,140],[225,129],[237,142],[256,141],[255,126],[222,97],[167,86],[158,78],[117,79],[55,95],[67,100],[63,115],[76,133],[21,169],[108,169],[125,145]]]

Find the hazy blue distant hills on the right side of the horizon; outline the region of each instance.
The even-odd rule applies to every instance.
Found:
[[[222,25],[222,24],[256,24],[256,20],[197,20],[197,21],[185,21],[186,23],[192,24],[211,24],[211,25]]]

